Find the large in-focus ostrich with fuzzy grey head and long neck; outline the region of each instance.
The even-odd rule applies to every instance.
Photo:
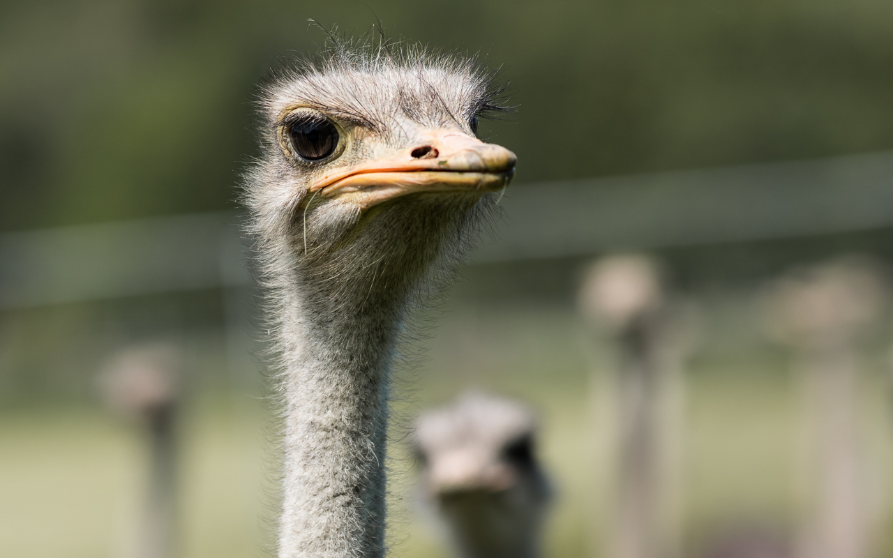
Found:
[[[246,205],[280,373],[280,558],[385,554],[388,376],[407,315],[495,212],[515,156],[476,137],[472,59],[336,44],[263,92]]]

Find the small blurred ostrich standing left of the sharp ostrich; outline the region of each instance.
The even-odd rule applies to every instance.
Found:
[[[146,511],[133,555],[169,558],[176,508],[176,416],[179,354],[167,345],[130,347],[116,354],[100,376],[106,404],[144,427],[148,437]]]

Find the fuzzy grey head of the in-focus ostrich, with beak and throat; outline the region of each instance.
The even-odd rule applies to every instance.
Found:
[[[513,177],[514,154],[475,136],[503,110],[491,79],[470,59],[388,46],[337,46],[280,76],[248,176],[255,232],[305,279],[404,296],[455,261]]]

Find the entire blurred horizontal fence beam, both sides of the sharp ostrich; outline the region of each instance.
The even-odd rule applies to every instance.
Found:
[[[472,262],[893,227],[893,152],[517,184]],[[0,235],[0,309],[246,285],[235,212]]]

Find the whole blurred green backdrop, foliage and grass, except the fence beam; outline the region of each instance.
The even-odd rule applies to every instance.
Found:
[[[380,20],[394,37],[480,53],[502,67],[518,111],[512,122],[484,123],[482,134],[518,154],[517,184],[534,199],[553,195],[537,186],[545,181],[893,149],[887,0],[4,0],[4,242],[46,228],[238,211],[238,175],[256,153],[256,84],[317,50],[325,36],[308,18],[352,35]],[[660,212],[662,192],[672,190],[655,180],[646,193],[650,211]],[[635,216],[634,205],[622,208]],[[567,218],[587,220],[588,208],[578,210]],[[845,252],[887,259],[891,241],[893,221],[734,242],[707,231],[684,246],[615,243],[658,246],[673,285],[704,321],[687,371],[686,554],[736,523],[793,529],[808,499],[798,481],[802,396],[789,355],[766,340],[755,311],[764,282]],[[438,313],[429,358],[399,373],[397,433],[415,410],[467,387],[538,409],[558,493],[552,556],[602,548],[606,488],[591,442],[598,372],[609,359],[592,348],[575,301],[580,270],[610,247],[468,266]],[[4,266],[0,273],[15,271]],[[145,448],[138,430],[104,410],[95,378],[121,347],[162,339],[181,348],[188,370],[179,555],[262,555],[272,458],[252,308],[237,285],[0,309],[0,554],[124,555]],[[890,333],[880,329],[866,349],[860,399],[881,511],[893,460]],[[445,555],[413,507],[400,436],[393,454],[395,555]],[[891,555],[890,520],[878,517],[875,554]]]

